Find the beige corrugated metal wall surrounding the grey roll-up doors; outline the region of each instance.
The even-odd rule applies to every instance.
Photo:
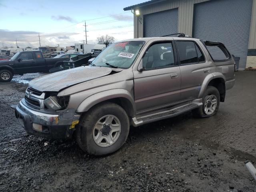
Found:
[[[194,4],[205,1],[208,0],[163,0],[139,7],[138,9],[140,9],[141,17],[143,18],[144,14],[178,8],[178,32],[192,36]],[[143,37],[143,26],[138,21],[138,18],[134,16],[134,38],[138,37]],[[248,48],[256,49],[256,0],[253,0]]]

